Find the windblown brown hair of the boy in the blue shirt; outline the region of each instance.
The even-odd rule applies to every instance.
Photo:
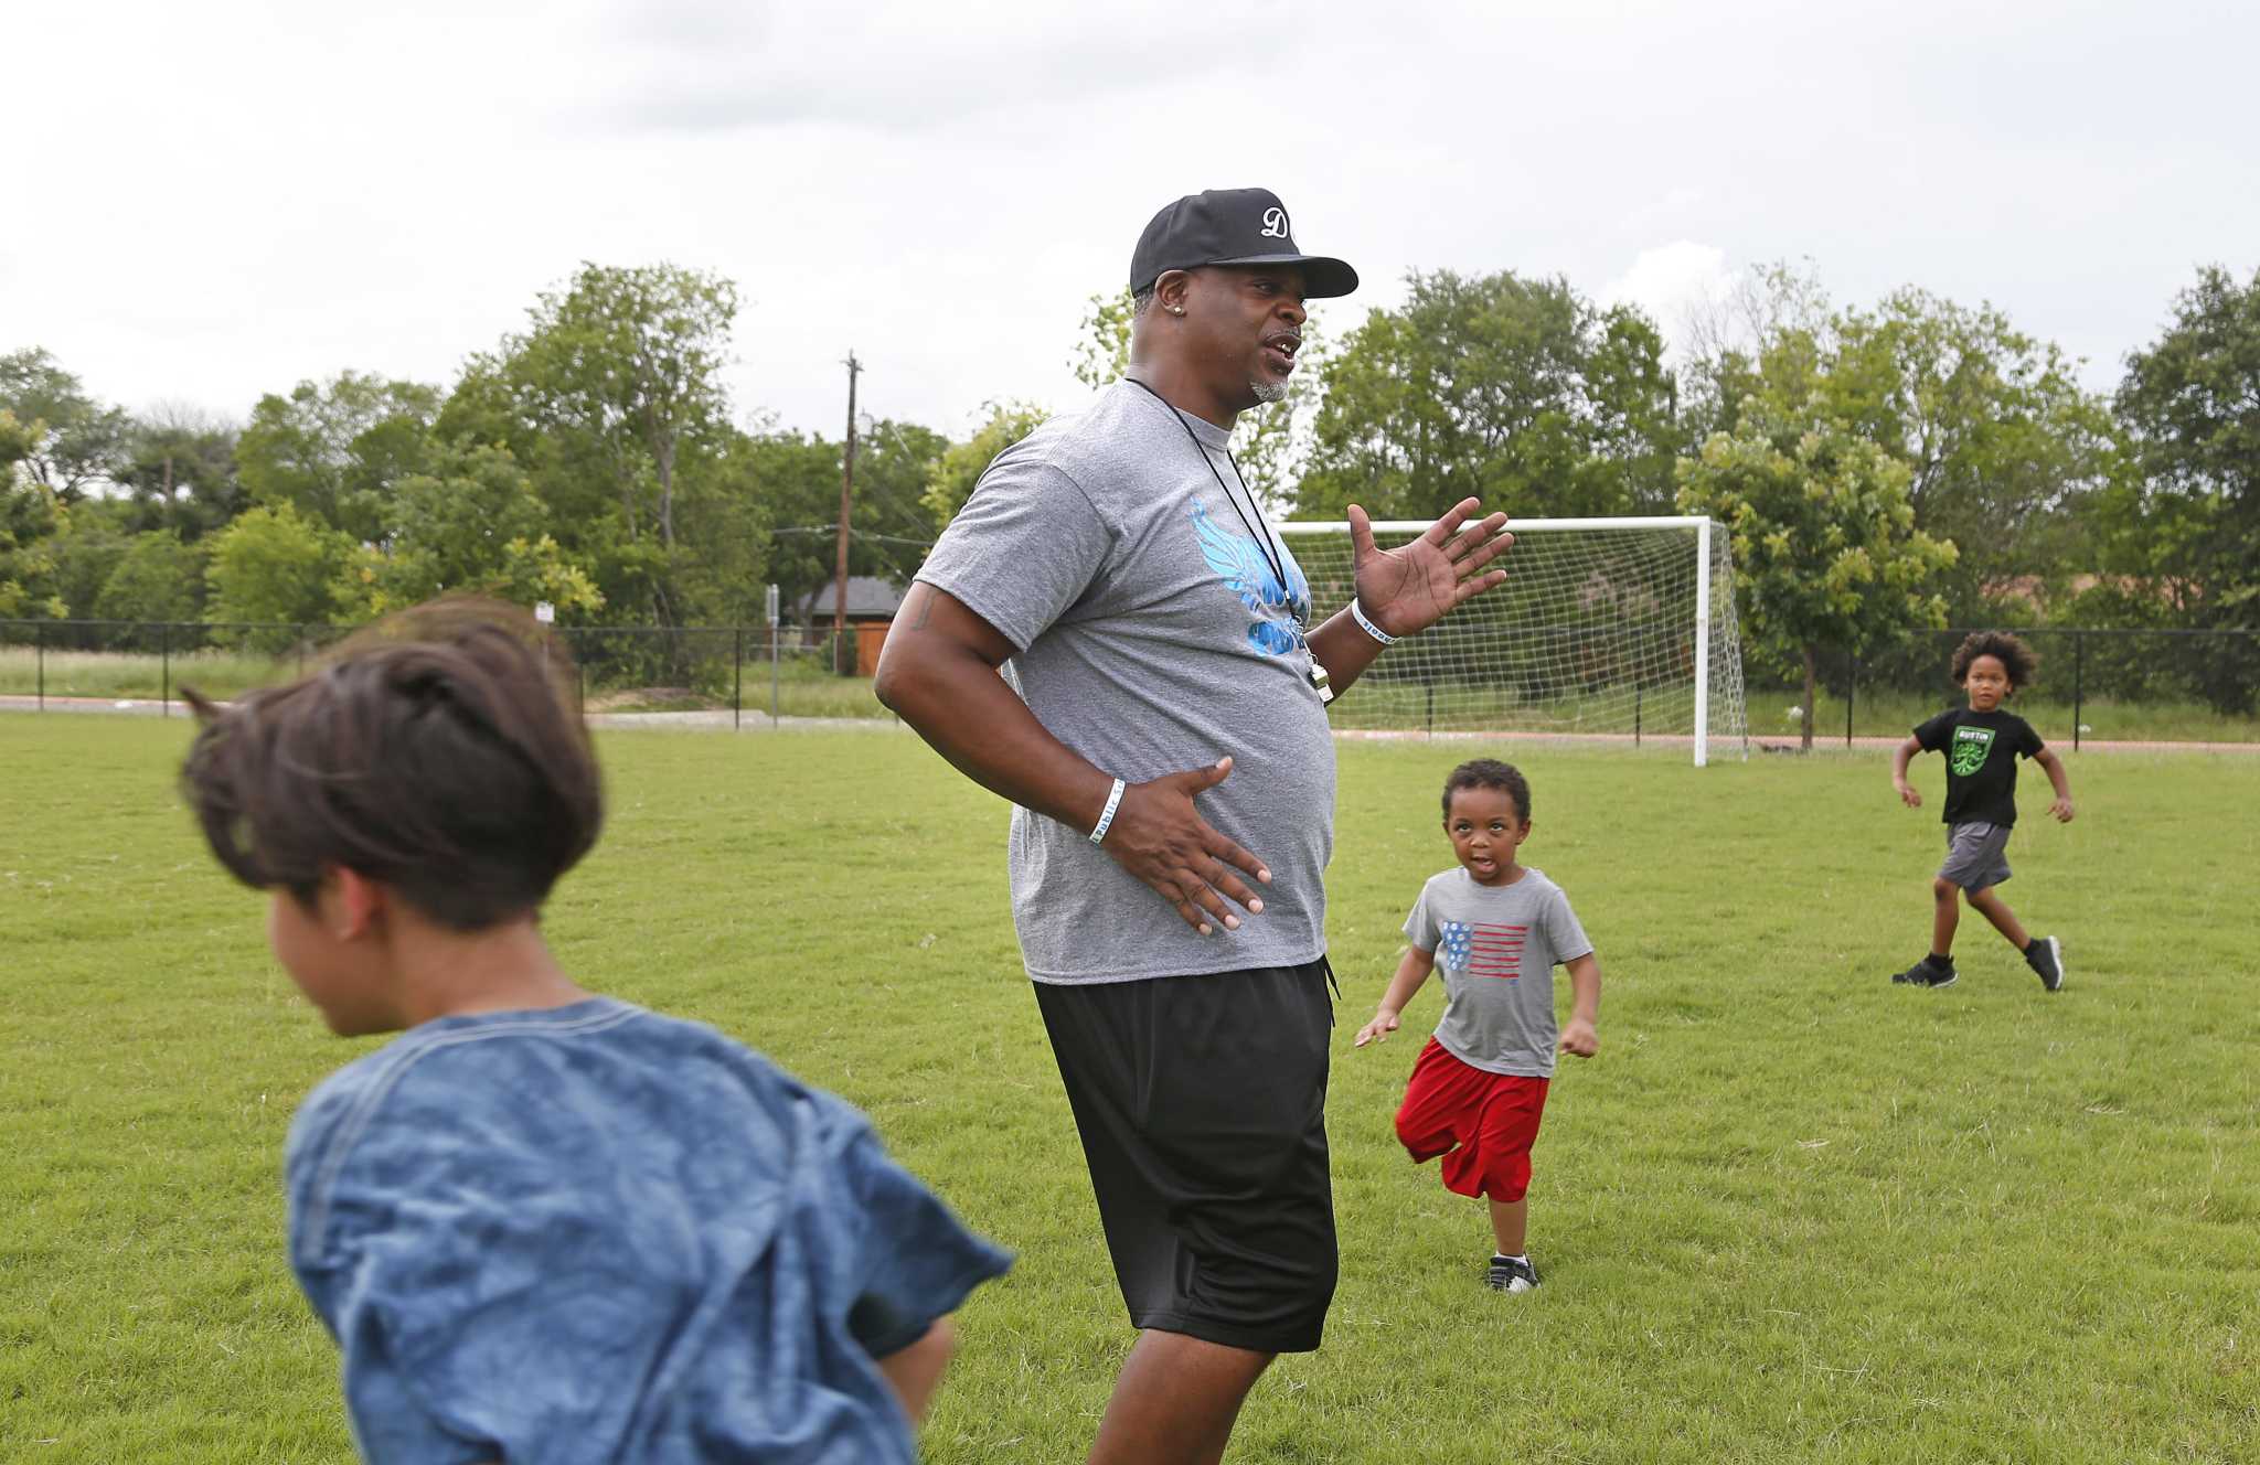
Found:
[[[515,606],[402,610],[282,687],[217,705],[181,784],[231,875],[314,902],[332,868],[477,931],[540,909],[603,823],[563,647]]]

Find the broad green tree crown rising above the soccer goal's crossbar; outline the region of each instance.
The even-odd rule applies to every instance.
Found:
[[[1299,375],[1299,373],[1297,373]],[[1435,518],[1462,497],[1519,515],[1670,502],[1681,445],[1663,339],[1566,280],[1412,274],[1324,369],[1295,511]]]

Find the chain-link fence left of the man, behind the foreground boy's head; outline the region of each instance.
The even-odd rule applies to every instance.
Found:
[[[0,705],[226,701],[289,681],[353,626],[0,619]],[[857,638],[800,626],[560,626],[583,712],[890,717],[857,676]],[[868,671],[868,649],[863,653]]]

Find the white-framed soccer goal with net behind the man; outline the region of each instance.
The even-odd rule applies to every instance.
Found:
[[[1392,649],[1336,703],[1338,728],[1598,735],[1749,757],[1727,534],[1709,518],[1514,520],[1507,583]],[[1383,549],[1428,525],[1374,525]],[[1349,604],[1349,525],[1279,531],[1313,622]]]

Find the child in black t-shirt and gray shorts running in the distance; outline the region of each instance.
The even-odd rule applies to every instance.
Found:
[[[2048,812],[2057,821],[2072,816],[2072,780],[2063,762],[2041,744],[2016,712],[2002,712],[2018,687],[2032,681],[2039,658],[2007,631],[1977,631],[1955,647],[1955,685],[1968,692],[1968,708],[1939,712],[1892,753],[1892,787],[1910,807],[1921,807],[1923,796],[1907,782],[1907,760],[1916,753],[1946,753],[1946,864],[1930,882],[1930,954],[1892,981],[1910,986],[1950,986],[1955,972],[1955,925],[1962,911],[1955,895],[1966,895],[1971,907],[1993,922],[1993,929],[2009,938],[2009,945],[2025,954],[2025,963],[2041,977],[2050,992],[2063,988],[2063,943],[2054,936],[2027,938],[2016,913],[1993,888],[2009,879],[2009,830],[2016,825],[2016,760],[2018,755],[2048,769],[2048,782],[2057,787],[2057,803]]]

